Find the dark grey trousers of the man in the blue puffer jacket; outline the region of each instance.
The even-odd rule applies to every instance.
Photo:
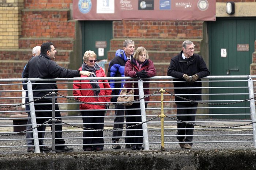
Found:
[[[124,105],[115,105],[115,109],[124,109]],[[116,110],[115,111],[115,117],[114,119],[114,123],[118,123],[118,124],[114,124],[114,129],[116,128],[123,128],[124,127],[124,115],[125,115],[125,110]],[[120,116],[120,117],[119,117]],[[122,136],[123,131],[113,131],[113,138],[112,138],[112,142],[115,143],[116,141],[118,141],[120,139],[120,137],[117,136]],[[126,136],[126,133],[125,133]],[[126,138],[124,138],[125,143],[126,143]]]

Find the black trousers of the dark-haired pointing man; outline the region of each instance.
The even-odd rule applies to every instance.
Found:
[[[37,103],[45,103],[45,105],[35,105],[35,116],[37,117],[37,124],[42,124],[45,121],[49,120],[49,118],[44,118],[44,117],[52,117],[52,111],[45,111],[45,110],[52,110],[52,105],[46,105],[46,103],[52,103],[52,101],[35,101],[35,104]],[[43,112],[38,112],[38,111],[43,111]],[[59,110],[59,105],[55,105],[55,110]],[[42,118],[43,119],[38,119],[38,118]],[[59,111],[55,111],[55,117],[61,117],[60,112]],[[61,120],[61,118],[58,118],[59,120]],[[52,123],[52,122],[49,122]],[[62,138],[62,125],[60,125],[61,122],[56,121],[55,124],[55,138]],[[52,129],[52,125],[50,125],[51,129]],[[37,128],[38,130],[38,138],[42,138],[42,135],[44,132],[39,132],[39,131],[43,131],[43,126],[40,126]],[[60,131],[60,132],[57,132]],[[42,145],[42,140],[39,140],[39,145]],[[63,139],[55,139],[55,144],[65,144],[65,141]],[[33,145],[34,145],[34,140],[33,140]],[[56,146],[56,149],[61,149],[64,148],[65,146]]]

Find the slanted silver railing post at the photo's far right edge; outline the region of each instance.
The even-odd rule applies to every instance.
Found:
[[[248,88],[249,88],[249,98],[254,97],[254,90],[253,90],[253,81],[250,75],[248,75]],[[255,117],[255,99],[250,100],[250,108],[251,108],[251,119],[252,122],[256,121]],[[254,147],[256,148],[256,124],[252,124],[252,132],[253,132],[253,140],[254,140]]]

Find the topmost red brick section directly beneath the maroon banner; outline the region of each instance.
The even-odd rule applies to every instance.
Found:
[[[115,38],[202,38],[203,22],[187,21],[115,21]]]

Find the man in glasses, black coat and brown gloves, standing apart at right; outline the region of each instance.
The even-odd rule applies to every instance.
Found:
[[[202,82],[200,81],[202,77],[210,75],[207,69],[206,63],[203,57],[194,54],[195,45],[189,40],[185,40],[182,43],[182,51],[180,54],[172,58],[170,65],[167,70],[167,75],[176,77],[174,81],[186,81],[186,82],[174,82],[174,93],[177,96],[184,97],[193,101],[202,100],[201,95],[189,95],[189,94],[201,94],[202,89],[197,87],[202,87]],[[197,81],[198,80],[198,81]],[[178,88],[178,89],[176,89]],[[182,95],[180,95],[182,94]],[[184,95],[183,94],[188,94]],[[198,103],[183,100],[175,96],[175,101],[177,105],[177,119],[192,122],[195,121],[196,109]],[[190,109],[189,109],[190,108]],[[192,109],[191,109],[192,108]],[[182,116],[191,115],[191,116]],[[192,139],[193,139],[193,128],[194,125],[177,122],[177,139],[182,149],[191,149]]]

